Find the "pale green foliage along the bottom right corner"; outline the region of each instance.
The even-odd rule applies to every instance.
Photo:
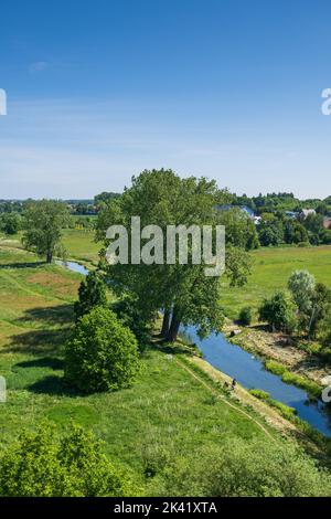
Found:
[[[162,490],[204,497],[329,496],[331,476],[292,444],[227,438],[169,465]]]

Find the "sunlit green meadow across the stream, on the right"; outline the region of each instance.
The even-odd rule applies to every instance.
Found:
[[[223,283],[222,303],[232,319],[238,317],[243,307],[256,310],[265,297],[285,289],[296,269],[308,269],[318,282],[331,286],[331,246],[259,248],[252,256],[254,264],[247,285],[231,288]]]

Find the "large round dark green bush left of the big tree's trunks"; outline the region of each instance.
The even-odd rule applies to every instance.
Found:
[[[96,307],[76,324],[65,348],[65,377],[84,392],[131,384],[139,367],[134,333],[107,308]]]

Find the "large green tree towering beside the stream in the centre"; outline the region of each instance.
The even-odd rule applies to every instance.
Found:
[[[98,237],[105,237],[106,229],[113,224],[130,229],[131,216],[138,215],[141,227],[151,224],[161,227],[166,251],[167,225],[185,225],[188,229],[222,223],[216,205],[226,202],[228,197],[214,181],[204,178],[181,179],[171,170],[143,171],[132,178],[132,186],[119,199],[100,211]],[[242,243],[239,246],[231,244],[231,235],[226,240],[226,274],[232,284],[242,284],[248,273],[247,255]],[[147,242],[142,240],[142,245]],[[107,244],[105,241],[105,247]],[[129,252],[131,246],[129,236]],[[177,339],[181,325],[195,325],[202,333],[207,333],[223,324],[220,277],[205,276],[205,265],[192,264],[192,256],[189,240],[188,264],[180,264],[177,255],[172,264],[118,263],[107,267],[115,290],[135,294],[146,311],[163,309],[162,335],[170,341]]]

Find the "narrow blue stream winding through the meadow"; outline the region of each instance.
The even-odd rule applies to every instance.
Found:
[[[88,269],[78,263],[57,263],[70,271],[88,274]],[[305,390],[282,382],[280,377],[265,369],[260,359],[232,345],[222,333],[211,333],[203,340],[199,338],[194,327],[185,328],[184,333],[196,343],[204,359],[214,368],[235,378],[246,389],[266,391],[273,399],[293,407],[300,419],[320,433],[331,437],[331,411],[322,401],[312,401]]]

